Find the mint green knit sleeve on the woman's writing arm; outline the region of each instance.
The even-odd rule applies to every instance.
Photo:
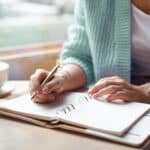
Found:
[[[60,59],[65,64],[78,65],[85,72],[87,84],[90,84],[94,81],[94,75],[85,24],[84,3],[84,0],[76,1],[74,24],[70,27],[69,39],[63,46]]]

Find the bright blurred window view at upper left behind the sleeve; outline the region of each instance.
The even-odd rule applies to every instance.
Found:
[[[75,0],[0,0],[0,50],[63,43]]]

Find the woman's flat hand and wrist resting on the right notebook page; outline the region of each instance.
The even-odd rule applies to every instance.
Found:
[[[108,95],[107,101],[123,100],[125,102],[138,101],[148,102],[149,94],[146,92],[147,85],[133,85],[118,76],[107,77],[99,80],[88,93],[98,99]]]

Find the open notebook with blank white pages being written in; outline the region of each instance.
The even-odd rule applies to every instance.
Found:
[[[37,104],[24,95],[0,104],[0,114],[47,128],[59,124],[123,136],[150,110],[142,103],[114,104],[91,99],[83,93],[64,93],[48,104]]]

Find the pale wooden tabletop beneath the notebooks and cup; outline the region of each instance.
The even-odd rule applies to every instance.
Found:
[[[9,99],[27,92],[27,81],[12,81]],[[5,101],[5,99],[3,99]],[[1,100],[1,102],[3,101]],[[0,116],[0,150],[150,150],[150,140],[139,148],[72,132],[46,129]]]

